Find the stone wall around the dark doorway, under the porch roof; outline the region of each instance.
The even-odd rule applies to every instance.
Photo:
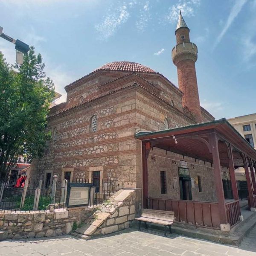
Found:
[[[155,157],[155,162],[152,160]],[[160,148],[153,148],[148,157],[148,195],[152,198],[166,198],[180,200],[180,187],[178,169],[180,161],[187,162],[189,175],[195,180],[195,187],[192,187],[192,200],[216,202],[216,185],[214,179],[213,168],[211,163],[195,158],[186,157],[165,151]],[[160,171],[166,171],[166,194],[161,194],[160,189]],[[202,192],[198,190],[197,177],[201,176]],[[173,178],[177,177],[178,186],[174,189]],[[222,168],[222,178],[229,179],[229,170]]]

